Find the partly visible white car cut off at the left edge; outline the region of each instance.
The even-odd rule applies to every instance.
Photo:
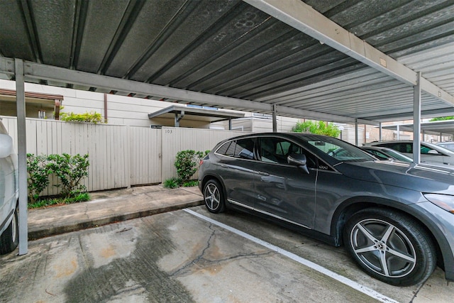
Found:
[[[0,118],[0,254],[18,245],[18,175],[13,139]]]

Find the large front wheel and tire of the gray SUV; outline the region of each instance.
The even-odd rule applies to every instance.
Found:
[[[345,225],[343,240],[365,272],[390,285],[416,285],[436,268],[431,237],[414,219],[395,211],[358,211]]]

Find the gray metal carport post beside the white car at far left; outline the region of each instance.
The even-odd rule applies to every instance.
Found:
[[[28,214],[27,214],[27,146],[26,146],[26,91],[23,80],[23,60],[15,59],[16,106],[17,106],[17,146],[19,181],[19,255],[28,253]]]

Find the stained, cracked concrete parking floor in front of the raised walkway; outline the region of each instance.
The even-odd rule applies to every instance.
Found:
[[[421,287],[392,287],[365,275],[343,248],[203,206],[43,238],[29,248],[0,257],[0,285],[9,285],[0,302],[450,302],[454,295],[440,269]]]

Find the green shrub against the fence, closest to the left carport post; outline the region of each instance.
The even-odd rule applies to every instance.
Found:
[[[48,160],[44,155],[27,154],[28,200],[34,203],[49,185]]]

